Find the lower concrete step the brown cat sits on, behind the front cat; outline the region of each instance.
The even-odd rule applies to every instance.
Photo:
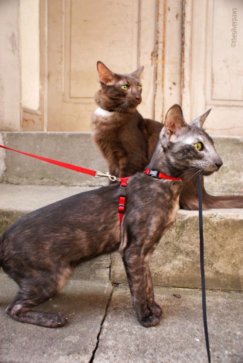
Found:
[[[92,188],[0,183],[0,233],[21,215]],[[243,290],[243,209],[210,209],[203,215],[207,288]],[[154,285],[201,286],[197,211],[179,210],[175,225],[156,247],[150,266]],[[102,268],[110,270],[112,282],[127,282],[119,253],[87,261],[76,269],[74,278],[102,280]]]

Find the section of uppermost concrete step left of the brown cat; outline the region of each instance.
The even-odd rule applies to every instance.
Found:
[[[0,144],[37,156],[83,168],[107,172],[107,164],[93,145],[91,135],[61,132],[5,132]],[[0,148],[0,181],[11,184],[101,186],[107,180],[77,173],[45,161]]]

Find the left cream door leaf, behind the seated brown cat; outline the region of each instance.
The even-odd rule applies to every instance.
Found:
[[[143,113],[153,117],[155,28],[154,0],[49,0],[47,130],[90,130],[98,60],[118,73],[145,66]]]

